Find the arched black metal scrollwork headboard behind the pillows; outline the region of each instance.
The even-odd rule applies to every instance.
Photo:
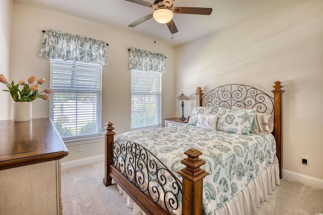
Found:
[[[245,109],[257,108],[259,113],[274,112],[274,98],[248,85],[224,85],[209,91],[202,97],[203,106],[222,106],[231,109],[238,106]]]

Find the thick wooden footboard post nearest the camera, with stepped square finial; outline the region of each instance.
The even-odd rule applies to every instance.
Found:
[[[187,150],[184,154],[188,156],[182,160],[186,168],[177,172],[183,177],[182,214],[201,215],[203,178],[208,172],[200,169],[200,166],[204,165],[205,161],[198,157],[202,153],[196,149]]]

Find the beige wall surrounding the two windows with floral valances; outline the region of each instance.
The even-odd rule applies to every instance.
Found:
[[[113,28],[86,23],[42,10],[13,4],[11,79],[27,79],[28,76],[44,77],[43,87],[49,88],[49,59],[38,56],[44,36],[41,30],[60,30],[72,34],[100,39],[109,43],[107,56],[109,65],[102,66],[102,127],[111,121],[120,134],[130,130],[130,69],[128,48],[137,47],[167,56],[167,73],[162,75],[162,117],[173,117],[175,112],[175,48]],[[167,104],[167,105],[166,105]],[[3,113],[0,113],[3,114]],[[1,115],[0,118],[7,117]],[[49,117],[49,102],[33,101],[32,117]],[[13,118],[12,112],[9,118]],[[68,147],[70,155],[62,162],[104,154],[103,142],[86,144],[84,152],[78,147]]]

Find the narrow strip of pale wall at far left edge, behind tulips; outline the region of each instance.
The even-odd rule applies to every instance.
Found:
[[[12,1],[0,1],[0,74],[10,79],[10,35],[11,35],[11,17]],[[0,83],[0,98],[4,105],[0,105],[0,120],[9,119],[9,102],[11,96],[8,92],[2,91],[7,89],[6,85]]]

